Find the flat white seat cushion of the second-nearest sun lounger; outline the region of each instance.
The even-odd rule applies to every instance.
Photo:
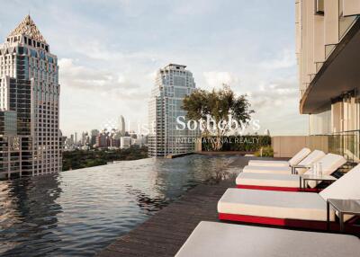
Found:
[[[228,189],[218,202],[218,212],[257,217],[327,220],[327,204],[311,192]],[[335,213],[330,211],[330,220]]]

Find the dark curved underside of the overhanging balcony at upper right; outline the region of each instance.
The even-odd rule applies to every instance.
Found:
[[[360,73],[360,20],[333,49],[329,58],[313,75],[311,83],[301,89],[300,111],[302,114],[316,114],[326,110],[344,93],[359,88]]]

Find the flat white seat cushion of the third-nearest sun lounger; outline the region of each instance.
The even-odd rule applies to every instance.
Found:
[[[299,188],[300,177],[293,174],[239,173],[237,185]]]

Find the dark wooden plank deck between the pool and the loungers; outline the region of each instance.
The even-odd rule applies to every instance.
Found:
[[[238,168],[247,161],[247,157],[239,157],[229,167]],[[98,256],[174,256],[200,221],[218,221],[218,200],[234,186],[234,179],[196,186],[129,234],[121,236]]]

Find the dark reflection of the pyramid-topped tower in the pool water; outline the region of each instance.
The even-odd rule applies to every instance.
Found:
[[[0,231],[6,238],[0,253],[20,256],[26,249],[31,255],[37,244],[49,250],[54,242],[61,241],[56,232],[58,214],[62,212],[57,202],[60,193],[54,175],[0,182]],[[54,230],[51,232],[49,227]]]

